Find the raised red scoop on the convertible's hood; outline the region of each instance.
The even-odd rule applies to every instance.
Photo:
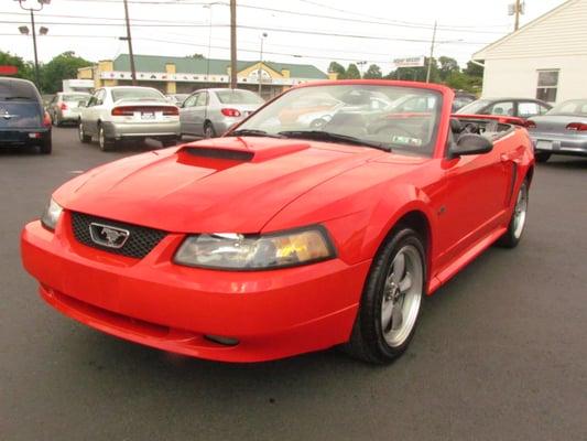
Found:
[[[210,160],[237,162],[263,162],[309,149],[307,142],[275,138],[216,138],[192,142],[180,148],[177,153]]]

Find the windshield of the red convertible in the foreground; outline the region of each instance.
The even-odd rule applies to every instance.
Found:
[[[394,107],[409,97],[418,106]],[[243,135],[352,142],[417,155],[432,155],[442,108],[434,90],[372,85],[327,85],[292,89],[242,125]],[[325,135],[334,135],[325,137]],[[336,137],[335,137],[336,136]]]

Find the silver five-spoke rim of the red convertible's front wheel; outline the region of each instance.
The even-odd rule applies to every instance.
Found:
[[[417,319],[424,291],[424,262],[418,250],[406,245],[393,259],[381,302],[381,330],[391,347],[401,346]]]

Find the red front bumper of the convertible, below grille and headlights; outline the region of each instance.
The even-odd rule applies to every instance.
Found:
[[[215,361],[262,362],[346,342],[370,266],[333,259],[273,271],[195,269],[171,262],[183,235],[167,235],[137,260],[77,243],[67,225],[65,212],[55,233],[33,222],[21,237],[23,266],[51,305],[108,334]]]

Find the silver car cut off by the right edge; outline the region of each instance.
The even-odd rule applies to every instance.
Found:
[[[545,162],[552,154],[587,157],[587,99],[564,101],[526,125],[536,161]]]

